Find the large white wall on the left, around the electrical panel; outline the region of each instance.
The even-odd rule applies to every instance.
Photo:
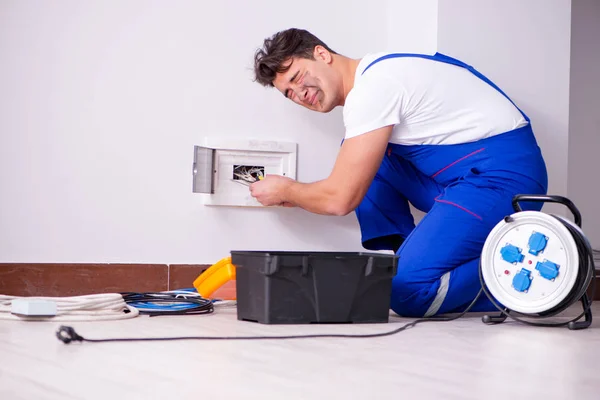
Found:
[[[354,215],[202,206],[192,150],[206,135],[296,141],[298,178],[326,177],[341,110],[315,114],[253,83],[252,55],[292,26],[349,56],[379,51],[393,4],[1,2],[0,262],[362,249]]]

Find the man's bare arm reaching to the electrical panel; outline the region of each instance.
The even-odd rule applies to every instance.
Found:
[[[288,203],[316,214],[349,214],[358,207],[379,169],[392,127],[344,140],[333,170],[324,180],[299,183],[267,176],[253,184],[252,195],[265,205]]]

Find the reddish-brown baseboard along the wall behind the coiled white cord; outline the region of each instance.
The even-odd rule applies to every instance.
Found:
[[[193,287],[210,265],[0,263],[0,294],[78,296]]]

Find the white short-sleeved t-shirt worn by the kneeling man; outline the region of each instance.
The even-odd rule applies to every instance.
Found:
[[[420,57],[358,65],[346,97],[346,139],[394,125],[390,143],[458,144],[476,141],[527,124],[519,110],[469,70]]]

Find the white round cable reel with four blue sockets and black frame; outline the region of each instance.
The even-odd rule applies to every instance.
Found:
[[[523,211],[519,202],[565,205],[574,223],[540,211]],[[506,318],[534,326],[567,326],[584,329],[592,323],[591,300],[596,272],[593,250],[581,230],[581,214],[561,196],[518,195],[515,213],[500,221],[483,246],[479,278],[484,293],[500,311],[483,322],[497,324]],[[557,316],[580,301],[581,314],[567,322],[536,322]],[[579,321],[585,317],[584,321]],[[527,318],[525,320],[523,318]]]

